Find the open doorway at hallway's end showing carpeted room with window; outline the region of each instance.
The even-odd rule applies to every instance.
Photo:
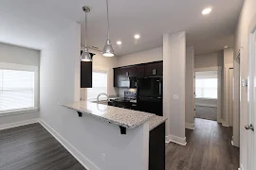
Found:
[[[222,79],[221,66],[194,68],[193,88],[195,118],[209,119],[222,123]],[[205,113],[202,112],[202,114],[205,114],[203,117],[201,116],[202,114],[200,114],[200,111],[203,110],[210,110],[211,113],[207,114],[206,111]]]

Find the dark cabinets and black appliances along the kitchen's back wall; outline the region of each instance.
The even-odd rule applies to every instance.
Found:
[[[109,98],[109,106],[163,115],[162,61],[114,68],[114,87],[119,95]]]

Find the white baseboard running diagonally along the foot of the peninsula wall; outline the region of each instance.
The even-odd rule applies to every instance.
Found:
[[[45,121],[42,119],[39,120],[39,123],[46,128],[46,130],[52,134],[52,136],[59,141],[59,143],[63,144],[64,148],[71,154],[77,161],[79,161],[85,169],[88,170],[101,170],[97,165],[93,162],[89,161],[82,153],[77,150],[72,144],[69,144],[57,131],[55,131],[52,127],[48,126]]]

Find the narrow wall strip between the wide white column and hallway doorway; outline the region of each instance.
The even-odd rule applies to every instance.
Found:
[[[185,122],[186,126],[194,127],[194,94],[193,94],[193,47],[186,49],[186,110]]]

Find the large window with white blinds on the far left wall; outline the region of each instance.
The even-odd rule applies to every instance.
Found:
[[[0,113],[36,108],[36,79],[33,66],[0,63]]]

